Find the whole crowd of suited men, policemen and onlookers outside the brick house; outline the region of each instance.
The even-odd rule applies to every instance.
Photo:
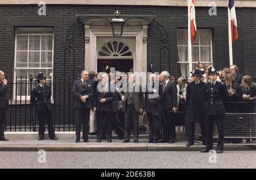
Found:
[[[44,139],[44,118],[47,119],[49,137],[58,140],[52,125],[51,89],[46,85],[46,76],[39,73],[38,86],[31,92],[31,104],[36,107],[39,118],[39,140]],[[0,72],[0,140],[3,135],[3,116],[7,110],[4,73]],[[143,90],[144,89],[144,90]],[[112,129],[123,143],[130,142],[133,132],[134,143],[139,143],[139,115],[145,114],[149,123],[148,143],[175,143],[175,117],[183,112],[187,146],[194,145],[195,124],[201,128],[201,140],[209,152],[213,149],[213,124],[218,130],[217,153],[223,152],[224,119],[226,112],[255,112],[255,104],[237,108],[235,103],[255,102],[256,84],[250,76],[238,74],[238,67],[231,65],[217,71],[212,65],[198,63],[192,76],[179,77],[177,84],[167,71],[158,76],[150,73],[146,87],[139,84],[135,73],[95,73],[83,70],[81,77],[73,83],[76,143],[80,142],[83,124],[83,140],[88,143],[88,135],[97,135],[97,142],[112,142]],[[253,129],[255,134],[255,129]],[[237,139],[235,139],[237,140]],[[255,139],[245,139],[255,143]]]

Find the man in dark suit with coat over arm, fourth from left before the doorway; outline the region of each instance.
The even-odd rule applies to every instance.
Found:
[[[162,128],[163,109],[160,103],[160,97],[162,97],[162,86],[156,81],[156,74],[150,74],[150,83],[147,84],[147,91],[145,94],[145,107],[149,122],[149,137],[148,143],[159,143],[162,139],[160,135],[160,128]]]

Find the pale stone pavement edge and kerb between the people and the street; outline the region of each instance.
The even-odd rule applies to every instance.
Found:
[[[42,145],[18,145],[2,144],[0,151],[38,151],[46,150],[56,152],[114,152],[114,151],[200,151],[204,149],[203,145],[194,145],[187,147],[185,144],[42,144]],[[214,145],[216,149],[216,145]],[[256,150],[256,145],[228,145],[225,150]]]

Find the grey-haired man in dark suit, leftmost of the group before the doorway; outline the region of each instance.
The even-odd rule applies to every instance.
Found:
[[[84,142],[88,140],[88,123],[90,109],[93,103],[93,86],[89,81],[89,73],[86,70],[81,72],[81,79],[73,83],[74,113],[76,119],[76,143],[80,142],[81,125],[84,124]]]

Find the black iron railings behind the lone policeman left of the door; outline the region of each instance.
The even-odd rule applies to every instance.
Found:
[[[36,77],[9,79],[6,131],[38,131],[38,117],[30,104],[31,90],[37,86]],[[47,79],[52,95],[53,125],[55,131],[75,131],[73,115],[73,78],[55,77]]]

